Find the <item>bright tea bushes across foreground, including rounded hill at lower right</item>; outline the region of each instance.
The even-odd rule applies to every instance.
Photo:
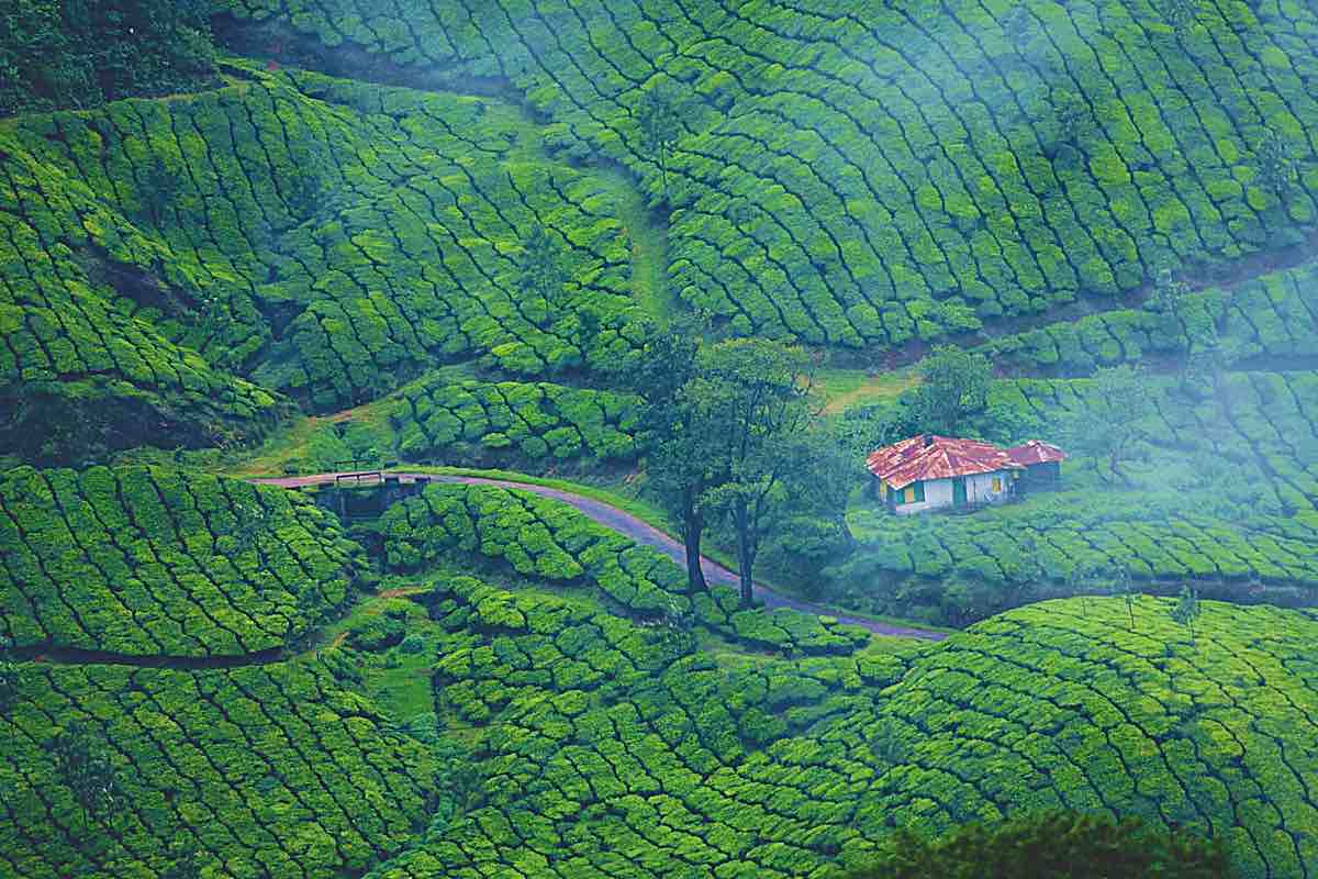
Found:
[[[372,879],[824,879],[895,826],[1052,808],[1215,834],[1242,879],[1318,863],[1311,613],[1203,602],[1191,643],[1170,601],[1054,601],[905,656],[724,664],[561,597],[430,605],[482,796]]]

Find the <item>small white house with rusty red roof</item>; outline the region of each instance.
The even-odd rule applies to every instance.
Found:
[[[1002,503],[1021,478],[1052,484],[1065,457],[1056,445],[1031,440],[1014,449],[950,436],[920,435],[886,445],[866,459],[874,490],[898,515]]]

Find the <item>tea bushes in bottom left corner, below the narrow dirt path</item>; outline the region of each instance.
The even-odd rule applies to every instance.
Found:
[[[5,875],[360,875],[413,838],[435,793],[432,756],[310,663],[20,673],[0,717]],[[120,787],[90,821],[43,750],[75,721]],[[200,872],[171,872],[186,851]]]

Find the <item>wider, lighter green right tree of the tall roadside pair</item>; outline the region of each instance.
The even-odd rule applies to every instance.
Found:
[[[683,387],[692,432],[709,441],[713,484],[700,506],[725,517],[737,535],[741,601],[754,600],[755,555],[763,526],[782,502],[787,476],[809,453],[813,366],[801,348],[734,339],[704,348]]]

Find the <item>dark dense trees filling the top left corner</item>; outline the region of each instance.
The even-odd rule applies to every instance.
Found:
[[[207,0],[0,1],[0,116],[163,95],[215,78]]]

